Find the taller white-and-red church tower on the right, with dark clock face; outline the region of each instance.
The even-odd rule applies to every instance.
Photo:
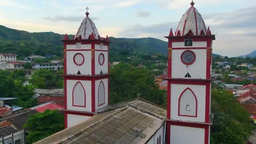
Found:
[[[210,143],[212,41],[194,7],[168,37],[167,144]]]

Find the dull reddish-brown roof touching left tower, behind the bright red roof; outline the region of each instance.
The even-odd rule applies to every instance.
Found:
[[[54,101],[57,105],[65,106],[65,98],[64,97],[56,97],[56,96],[40,96],[37,98],[37,101],[42,103],[48,103],[50,101]]]

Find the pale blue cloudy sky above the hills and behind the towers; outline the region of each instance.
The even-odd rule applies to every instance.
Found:
[[[167,41],[190,0],[0,0],[0,25],[28,32],[75,34],[86,7],[101,37]],[[235,57],[256,50],[256,0],[194,0],[212,34],[213,52]]]

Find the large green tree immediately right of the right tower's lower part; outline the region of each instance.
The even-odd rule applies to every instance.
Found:
[[[212,90],[211,144],[242,144],[252,134],[249,113],[237,102],[234,95],[223,89]]]

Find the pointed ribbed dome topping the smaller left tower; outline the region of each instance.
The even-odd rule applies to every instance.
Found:
[[[81,35],[82,39],[89,39],[89,36],[92,33],[94,34],[94,38],[97,39],[100,34],[98,33],[98,30],[94,22],[90,19],[88,11],[85,14],[86,14],[86,17],[81,23],[77,31],[77,34],[75,34],[74,39],[79,38],[79,35]]]

